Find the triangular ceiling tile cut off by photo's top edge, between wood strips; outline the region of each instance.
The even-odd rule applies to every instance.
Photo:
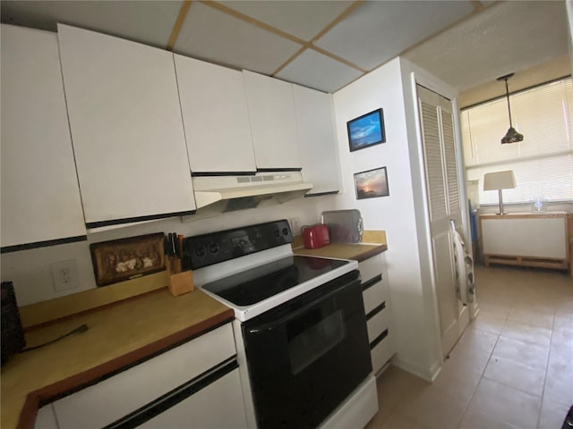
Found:
[[[272,0],[264,1],[224,1],[220,2],[235,11],[249,15],[281,29],[292,36],[311,40],[319,34],[340,13],[353,4],[353,1],[325,2],[306,0],[304,2]]]

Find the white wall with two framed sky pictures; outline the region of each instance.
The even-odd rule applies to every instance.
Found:
[[[408,81],[403,79],[397,58],[334,95],[344,193],[330,198],[331,206],[321,209],[358,208],[363,214],[364,229],[387,232],[386,261],[398,349],[395,364],[431,378],[436,352],[435,346],[431,352],[428,350],[425,335],[428,318],[435,317],[435,311],[424,307],[410,166],[412,136],[407,128],[402,88]],[[380,107],[384,109],[386,143],[350,153],[346,122]],[[354,173],[383,166],[388,172],[389,197],[356,200]],[[435,332],[432,339],[435,340]]]

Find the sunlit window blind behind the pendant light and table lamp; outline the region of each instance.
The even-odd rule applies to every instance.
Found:
[[[513,126],[524,135],[501,145],[509,128],[507,98],[462,111],[466,179],[479,180],[480,204],[497,204],[495,190],[483,191],[483,174],[513,170],[516,189],[504,189],[506,203],[531,198],[573,200],[573,82],[553,81],[509,96]]]

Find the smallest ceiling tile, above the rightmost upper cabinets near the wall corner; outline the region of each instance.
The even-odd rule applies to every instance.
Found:
[[[306,49],[295,61],[288,64],[276,77],[305,87],[335,92],[362,74],[346,64],[322,55],[312,49]]]

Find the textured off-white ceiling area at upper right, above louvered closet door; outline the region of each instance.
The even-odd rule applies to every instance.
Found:
[[[568,55],[568,40],[564,2],[500,2],[405,56],[464,90]]]

